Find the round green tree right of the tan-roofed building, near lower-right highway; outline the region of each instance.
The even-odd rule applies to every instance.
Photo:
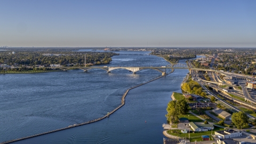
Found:
[[[249,117],[243,111],[239,111],[237,113],[233,113],[231,120],[237,128],[241,127],[242,130],[242,127],[248,125]]]

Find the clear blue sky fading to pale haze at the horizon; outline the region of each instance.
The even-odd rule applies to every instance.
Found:
[[[1,0],[0,46],[256,47],[256,1]]]

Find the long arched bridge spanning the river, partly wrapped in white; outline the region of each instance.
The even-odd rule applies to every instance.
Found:
[[[191,74],[191,70],[197,70],[197,71],[201,70],[201,71],[206,71],[206,72],[213,71],[213,72],[217,72],[217,73],[226,75],[225,73],[222,73],[222,71],[219,71],[219,70],[191,68],[191,67],[188,67],[187,65],[181,64],[181,63],[173,64],[171,66],[161,66],[161,67],[107,67],[107,66],[103,66],[103,67],[47,67],[47,68],[62,69],[64,71],[66,71],[68,69],[82,69],[82,70],[84,70],[84,72],[87,72],[90,69],[103,69],[103,70],[106,70],[107,73],[110,73],[111,70],[115,70],[115,69],[127,69],[129,71],[132,71],[133,74],[136,74],[137,71],[142,70],[142,69],[154,69],[154,70],[161,72],[162,75],[166,74],[166,69],[189,69],[190,74]]]

